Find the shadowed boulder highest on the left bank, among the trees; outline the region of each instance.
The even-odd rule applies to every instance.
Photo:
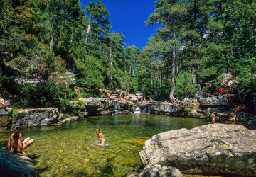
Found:
[[[9,77],[5,80],[6,89],[11,93],[20,93],[24,86],[32,84],[36,93],[43,93],[45,82],[41,79],[31,79],[26,77]]]

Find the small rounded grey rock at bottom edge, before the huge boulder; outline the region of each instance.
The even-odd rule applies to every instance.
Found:
[[[161,166],[159,164],[149,164],[145,166],[140,177],[182,177],[181,171],[171,166]]]

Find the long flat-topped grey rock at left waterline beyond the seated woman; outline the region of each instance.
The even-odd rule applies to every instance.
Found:
[[[63,118],[58,108],[31,108],[18,110],[13,119],[13,126],[37,127],[59,122]]]

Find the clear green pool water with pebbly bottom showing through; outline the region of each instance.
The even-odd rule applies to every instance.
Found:
[[[35,142],[25,150],[40,176],[123,176],[139,168],[138,152],[145,139],[180,128],[191,129],[207,122],[164,115],[131,114],[86,118],[65,125],[22,130]],[[100,128],[109,146],[94,147]],[[11,132],[1,133],[0,149],[6,149]]]

